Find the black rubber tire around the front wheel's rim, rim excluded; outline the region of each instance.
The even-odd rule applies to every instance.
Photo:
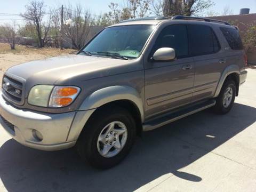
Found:
[[[127,140],[123,149],[113,157],[103,157],[97,148],[98,137],[103,128],[111,122],[122,122],[127,129]],[[126,109],[108,106],[95,111],[86,123],[76,143],[78,154],[97,169],[108,169],[117,165],[129,153],[136,137],[135,122]]]

